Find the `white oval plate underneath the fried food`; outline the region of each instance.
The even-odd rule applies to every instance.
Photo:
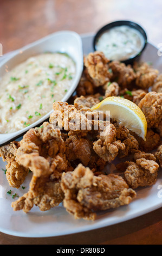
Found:
[[[93,51],[93,35],[82,36],[83,52],[87,54]],[[148,44],[142,58],[153,62],[153,66],[162,71],[162,58],[157,55],[157,48]],[[114,163],[109,164],[107,168],[112,172]],[[5,163],[0,160],[0,168],[5,169]],[[47,237],[66,234],[79,233],[82,231],[106,227],[108,225],[124,222],[140,215],[151,212],[162,206],[162,172],[159,170],[158,180],[154,186],[139,188],[137,198],[128,206],[121,206],[115,210],[102,211],[98,214],[96,221],[75,220],[72,215],[63,208],[62,204],[47,211],[41,212],[36,206],[28,213],[23,211],[14,212],[11,208],[11,195],[7,192],[11,189],[12,193],[22,196],[28,191],[28,184],[31,179],[29,173],[27,179],[19,188],[11,188],[3,171],[0,170],[0,231],[9,235],[23,237]]]

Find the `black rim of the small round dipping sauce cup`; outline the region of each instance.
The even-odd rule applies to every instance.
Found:
[[[95,45],[96,45],[96,40],[99,38],[99,36],[107,31],[108,29],[112,28],[112,27],[117,27],[117,26],[122,26],[122,25],[126,25],[126,26],[129,26],[129,27],[132,27],[134,29],[137,29],[141,35],[143,36],[144,40],[145,40],[145,44],[144,46],[142,47],[142,49],[138,52],[137,55],[133,56],[132,58],[128,58],[128,59],[125,59],[125,60],[122,60],[120,62],[130,62],[133,60],[135,60],[135,58],[137,58],[138,56],[140,56],[142,54],[142,52],[145,50],[145,47],[147,45],[147,34],[144,30],[144,28],[142,28],[138,23],[135,23],[134,21],[128,21],[128,20],[119,20],[119,21],[113,21],[111,23],[108,23],[107,25],[101,27],[98,32],[96,32],[95,36],[94,36],[94,39],[93,39],[93,49],[94,51],[96,51],[96,48],[95,48]],[[112,61],[112,60],[111,60]]]

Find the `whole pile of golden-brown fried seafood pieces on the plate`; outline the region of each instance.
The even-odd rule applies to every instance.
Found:
[[[109,96],[125,97],[141,108],[148,124],[146,141],[114,119],[106,124],[106,136],[100,136],[102,129],[93,129],[96,119],[89,120],[88,113]],[[75,218],[95,220],[98,211],[131,203],[135,188],[155,184],[162,167],[162,74],[158,70],[147,63],[126,66],[109,62],[102,52],[89,53],[76,95],[69,104],[54,102],[53,108],[49,122],[0,149],[11,187],[20,187],[29,169],[33,172],[29,191],[12,202],[15,211],[29,212],[34,205],[47,211],[63,202]],[[66,127],[57,114],[64,114],[64,108],[68,109]],[[81,123],[77,129],[70,127],[76,116],[85,121],[86,130],[81,130]],[[54,123],[62,130],[55,129]],[[117,156],[121,163],[116,170],[122,174],[108,174],[104,168]],[[131,161],[125,162],[126,156]]]

